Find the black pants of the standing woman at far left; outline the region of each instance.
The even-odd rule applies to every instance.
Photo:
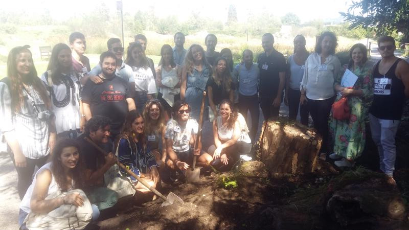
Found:
[[[9,149],[9,154],[11,157],[11,160],[13,160],[13,164],[15,167],[15,161],[14,161],[14,154],[11,152]],[[47,163],[48,156],[44,156],[40,159],[30,159],[26,157],[26,162],[27,166],[24,168],[21,167],[15,167],[17,171],[17,192],[18,196],[20,197],[20,200],[26,195],[27,189],[30,187],[31,182],[33,182],[33,174],[34,174],[34,169],[35,166],[38,168],[41,168],[44,164]]]

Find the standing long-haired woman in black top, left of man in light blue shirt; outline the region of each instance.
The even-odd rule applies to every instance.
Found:
[[[209,95],[209,104],[213,114],[217,117],[220,102],[223,99],[234,99],[234,83],[232,75],[228,70],[228,61],[224,57],[218,57],[213,66],[213,75],[208,80],[207,89]]]

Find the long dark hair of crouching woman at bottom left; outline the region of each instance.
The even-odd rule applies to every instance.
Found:
[[[63,170],[63,166],[61,163],[61,154],[62,150],[64,148],[68,147],[75,147],[78,152],[79,152],[79,159],[77,162],[77,165],[75,168],[70,169],[73,180],[74,180],[74,188],[83,188],[84,187],[84,181],[82,180],[83,178],[83,173],[84,173],[84,164],[83,164],[83,156],[80,152],[80,147],[78,143],[73,140],[73,139],[61,139],[57,142],[57,144],[54,147],[53,150],[53,155],[52,155],[52,165],[51,165],[51,172],[53,173],[54,179],[57,182],[58,186],[62,189],[69,189],[66,188],[65,186],[70,182],[67,180],[67,175],[64,173],[65,171]]]

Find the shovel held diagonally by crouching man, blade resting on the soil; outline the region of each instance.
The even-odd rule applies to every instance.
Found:
[[[93,145],[96,149],[98,149],[98,151],[100,151],[101,153],[103,153],[104,155],[108,155],[108,153],[106,153],[101,147],[99,147],[97,144],[95,144],[91,139],[89,139],[88,137],[84,137],[84,140],[87,141],[89,144]],[[137,176],[137,174],[133,173],[132,171],[130,171],[128,168],[126,168],[126,166],[124,166],[122,163],[120,163],[117,159],[116,164],[121,167],[123,170],[125,170],[129,175],[133,176],[135,179],[137,179],[140,183],[142,183],[142,185],[144,185],[146,188],[148,188],[150,191],[152,191],[156,196],[161,197],[163,200],[165,200],[162,203],[162,207],[163,206],[168,206],[170,204],[173,204],[174,201],[176,201],[177,203],[179,203],[180,205],[183,205],[184,202],[183,200],[176,196],[174,193],[169,192],[168,196],[165,197],[162,193],[160,193],[159,191],[157,191],[155,188],[152,188],[150,185],[148,185],[148,183],[145,180],[141,180],[141,178],[139,176]]]

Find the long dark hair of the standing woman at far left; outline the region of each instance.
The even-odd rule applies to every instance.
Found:
[[[31,59],[33,55],[29,50],[30,45],[24,45],[22,47],[14,47],[10,50],[9,56],[7,58],[7,76],[11,81],[10,96],[11,102],[14,105],[14,111],[18,112],[21,109],[21,105],[24,103],[24,96],[22,90],[24,88],[23,82],[29,85],[32,85],[33,88],[40,94],[40,97],[47,109],[50,109],[50,99],[47,95],[46,87],[42,84],[40,78],[37,75],[37,71],[34,66],[30,70],[30,74],[26,78],[22,78],[17,72],[17,56],[20,53],[27,52],[30,54]]]

